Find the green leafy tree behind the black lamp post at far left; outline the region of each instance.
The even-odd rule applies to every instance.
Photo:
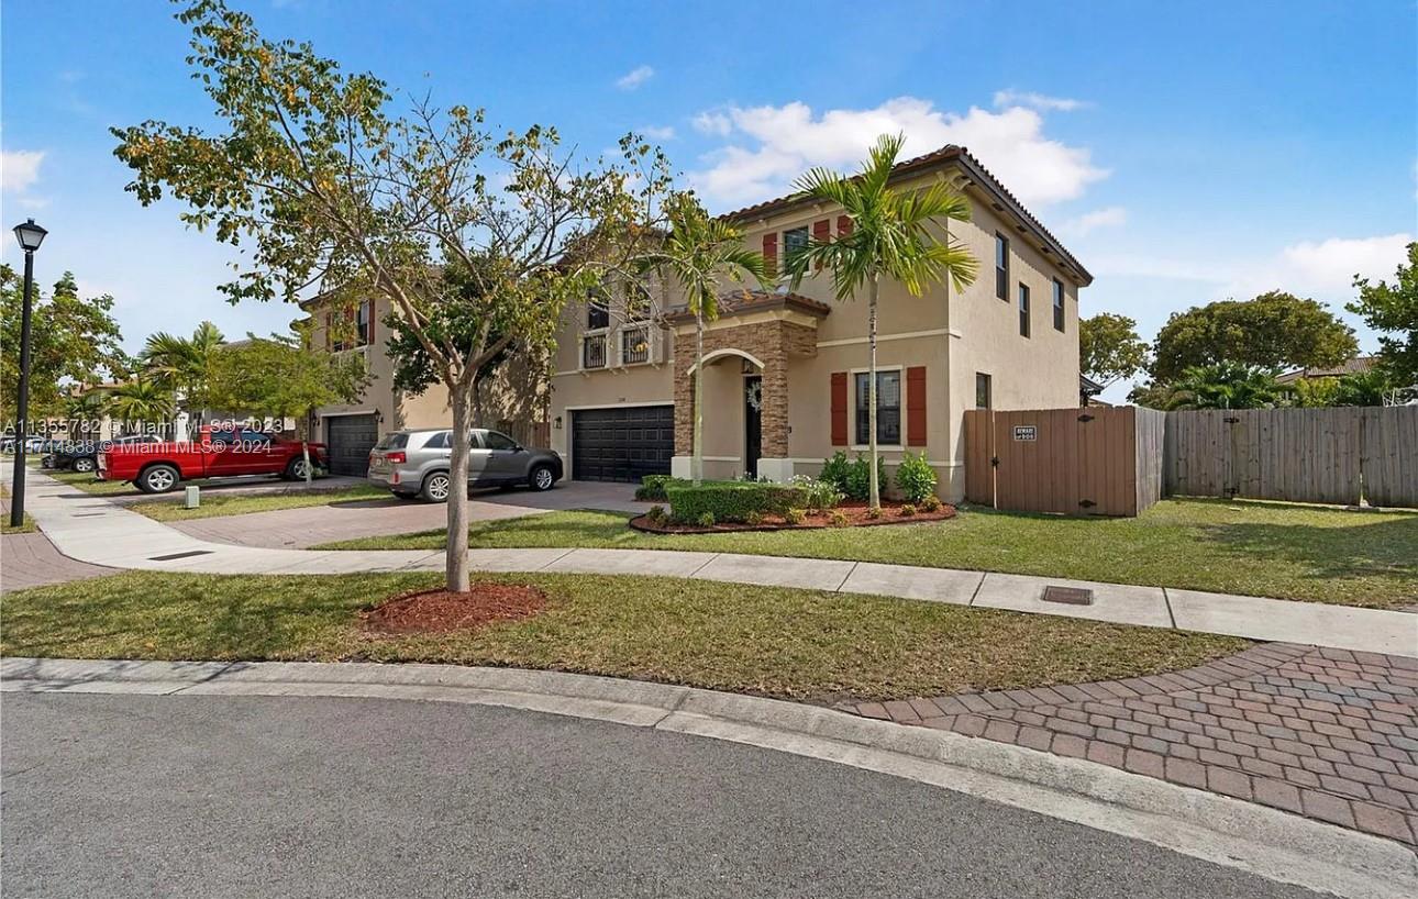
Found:
[[[126,364],[108,294],[79,299],[72,272],[44,295],[31,298],[30,417],[62,414],[65,383],[92,384],[121,374]],[[13,408],[20,391],[20,323],[24,277],[0,265],[0,410]]]

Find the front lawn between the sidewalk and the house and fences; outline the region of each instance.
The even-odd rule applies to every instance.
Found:
[[[699,536],[630,530],[615,512],[474,525],[479,547],[683,549],[976,569],[1347,605],[1418,603],[1418,513],[1168,499],[1136,519],[963,509],[930,525]],[[325,549],[435,549],[444,532]]]

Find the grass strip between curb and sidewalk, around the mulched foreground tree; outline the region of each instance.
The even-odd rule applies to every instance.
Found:
[[[659,577],[489,576],[546,591],[481,631],[367,632],[360,610],[437,574],[129,571],[0,600],[3,655],[367,659],[577,671],[793,699],[893,699],[1124,678],[1249,645],[1049,615]]]

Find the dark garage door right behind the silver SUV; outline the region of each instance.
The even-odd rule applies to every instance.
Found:
[[[675,407],[584,408],[571,413],[571,478],[640,482],[668,475]]]

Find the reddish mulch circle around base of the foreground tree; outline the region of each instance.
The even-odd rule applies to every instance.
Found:
[[[441,634],[537,614],[546,594],[520,584],[472,584],[469,593],[420,590],[362,613],[364,627],[384,634]]]

